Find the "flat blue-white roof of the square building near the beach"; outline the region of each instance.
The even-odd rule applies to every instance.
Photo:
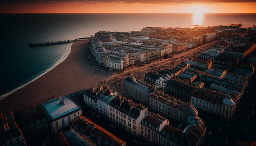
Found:
[[[63,115],[67,115],[73,113],[80,109],[78,105],[76,105],[69,97],[60,97],[59,98],[49,100],[41,104],[44,111],[47,113],[47,116],[53,120],[57,119],[58,117],[62,117]]]

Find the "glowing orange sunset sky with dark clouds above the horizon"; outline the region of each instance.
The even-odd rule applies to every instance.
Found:
[[[256,1],[1,0],[0,13],[256,13]]]

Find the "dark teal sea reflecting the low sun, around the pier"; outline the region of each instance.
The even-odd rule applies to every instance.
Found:
[[[130,32],[145,27],[256,25],[256,14],[0,14],[0,100],[60,64],[72,43],[30,47],[29,43],[74,40],[98,31]],[[40,88],[38,88],[40,90]]]

